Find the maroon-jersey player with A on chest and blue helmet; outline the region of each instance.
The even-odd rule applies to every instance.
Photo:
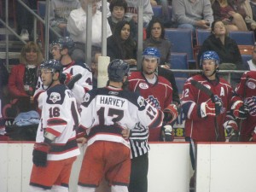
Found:
[[[224,79],[218,78],[218,65],[219,57],[215,51],[204,52],[200,60],[201,74],[188,79],[184,84],[181,100],[186,118],[185,140],[188,142],[224,142],[224,128],[237,130],[235,119],[228,113],[232,88]],[[206,92],[195,87],[192,80],[212,90],[214,101],[213,97],[211,99]],[[191,147],[191,163],[195,170],[194,155]],[[190,180],[190,187],[194,187],[194,177]]]

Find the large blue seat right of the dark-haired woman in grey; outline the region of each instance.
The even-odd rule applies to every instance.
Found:
[[[189,62],[195,62],[193,51],[193,38],[190,29],[167,28],[166,38],[171,41],[172,52],[186,53]]]

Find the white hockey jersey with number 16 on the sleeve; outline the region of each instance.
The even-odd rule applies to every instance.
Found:
[[[73,92],[64,84],[57,84],[41,94],[42,115],[36,142],[44,142],[45,131],[55,135],[48,160],[63,160],[80,154],[76,129],[80,116]]]

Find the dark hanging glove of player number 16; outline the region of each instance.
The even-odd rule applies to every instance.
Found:
[[[47,154],[50,146],[48,143],[35,143],[33,149],[33,164],[35,166],[47,166]]]

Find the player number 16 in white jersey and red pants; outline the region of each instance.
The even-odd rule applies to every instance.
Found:
[[[61,63],[44,61],[38,70],[48,89],[38,100],[42,116],[32,153],[30,188],[32,192],[67,192],[73,162],[80,154],[75,132],[79,112],[73,92],[60,84]]]

